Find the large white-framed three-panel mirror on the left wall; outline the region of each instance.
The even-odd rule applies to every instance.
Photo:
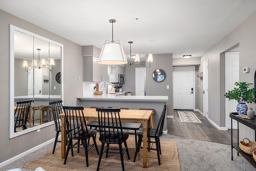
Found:
[[[10,138],[54,124],[49,102],[63,99],[63,45],[10,25]],[[26,127],[16,128],[17,101],[32,99]]]

